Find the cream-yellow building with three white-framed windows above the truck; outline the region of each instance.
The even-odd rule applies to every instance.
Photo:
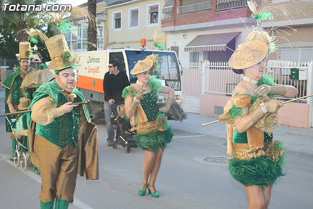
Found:
[[[160,28],[160,14],[165,0],[106,0],[108,43],[107,48],[155,49],[154,32],[164,34]]]

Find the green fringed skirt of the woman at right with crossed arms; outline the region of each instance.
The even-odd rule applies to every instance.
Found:
[[[244,186],[259,186],[262,190],[276,184],[278,178],[286,175],[283,171],[283,166],[286,164],[284,154],[286,148],[282,142],[276,141],[271,151],[275,152],[275,149],[282,153],[275,161],[270,159],[268,156],[270,153],[267,151],[264,156],[250,160],[231,159],[228,165],[231,176]]]

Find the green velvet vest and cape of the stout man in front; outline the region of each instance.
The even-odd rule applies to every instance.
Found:
[[[48,83],[40,86],[37,91],[33,94],[33,100],[30,104],[28,110],[31,109],[32,105],[37,102],[38,100],[49,96],[49,99],[52,101],[53,106],[57,107],[59,105],[63,105],[67,103],[67,98],[62,94],[63,90],[58,86],[57,82],[51,79]],[[79,90],[75,90],[73,92],[77,95],[74,98],[73,102],[84,101],[85,97]],[[71,141],[74,142],[75,147],[77,146],[78,142],[78,133],[80,128],[80,109],[81,106],[74,107],[73,110],[69,113],[66,113],[62,116],[56,117],[50,124],[41,126],[36,124],[36,134],[42,136],[43,138],[47,139],[51,143],[64,148],[66,147]],[[83,112],[86,119],[90,122],[89,112],[87,109],[87,105],[83,105]],[[27,113],[27,125],[28,128],[31,123],[31,112]]]

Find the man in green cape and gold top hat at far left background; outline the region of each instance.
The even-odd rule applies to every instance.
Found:
[[[12,72],[2,83],[5,87],[5,113],[14,113],[19,111],[18,105],[20,104],[20,98],[23,97],[21,93],[21,84],[27,73],[29,72],[30,59],[35,55],[30,49],[29,42],[20,42],[20,52],[16,54],[17,58],[20,59],[20,68],[17,68]],[[9,119],[14,116],[8,116]],[[5,120],[5,130],[12,132],[10,124]],[[10,158],[13,161],[14,151],[16,148],[16,139],[13,135],[12,138],[12,156]]]

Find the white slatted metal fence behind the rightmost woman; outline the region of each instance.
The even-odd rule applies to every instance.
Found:
[[[292,80],[291,69],[297,68],[304,71],[307,77],[304,80]],[[227,65],[227,62],[208,62],[202,63],[182,63],[182,95],[200,97],[200,94],[218,93],[231,95],[235,86],[241,82],[242,75],[234,73]],[[311,63],[291,63],[286,68],[266,68],[268,73],[274,78],[277,84],[294,86],[299,94],[297,97],[306,96],[311,93],[308,82],[312,78],[308,76],[312,70]],[[302,101],[306,101],[303,99]]]

